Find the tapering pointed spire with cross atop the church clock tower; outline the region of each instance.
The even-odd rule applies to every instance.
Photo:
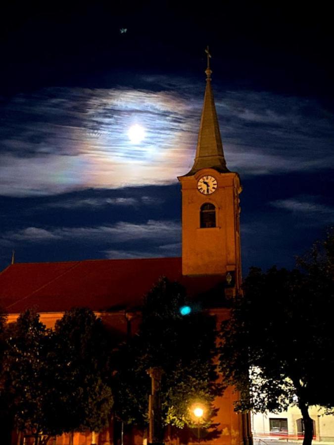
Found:
[[[194,175],[198,170],[212,168],[218,172],[229,172],[224,158],[223,144],[219,131],[218,117],[211,87],[211,68],[209,47],[205,49],[207,54],[206,89],[204,104],[200,119],[196,157],[191,171],[187,176]]]

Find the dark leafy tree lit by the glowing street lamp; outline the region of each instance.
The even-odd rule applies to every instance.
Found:
[[[117,352],[119,367],[114,377],[115,410],[131,424],[147,422],[150,380],[147,370],[160,367],[163,423],[183,428],[197,425],[191,403],[200,399],[212,413],[212,401],[220,393],[213,362],[216,355],[215,318],[196,310],[180,313],[185,289],[161,278],[146,295],[139,332]],[[203,426],[211,424],[210,414]]]

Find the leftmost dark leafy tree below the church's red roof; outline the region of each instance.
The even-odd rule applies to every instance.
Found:
[[[29,431],[35,436],[50,435],[61,431],[49,428],[49,406],[55,389],[48,380],[48,348],[50,331],[39,319],[39,314],[28,310],[15,323],[6,328],[6,349],[3,356],[3,397],[19,431]]]

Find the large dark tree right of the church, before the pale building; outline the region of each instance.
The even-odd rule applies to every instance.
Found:
[[[221,371],[240,392],[236,409],[281,411],[297,396],[304,445],[313,437],[308,407],[334,406],[333,253],[329,232],[298,259],[303,271],[251,268],[220,332]]]

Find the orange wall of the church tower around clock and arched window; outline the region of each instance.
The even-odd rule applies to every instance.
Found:
[[[210,175],[217,180],[212,194],[198,191],[199,178]],[[213,275],[235,271],[239,284],[239,192],[237,173],[203,169],[193,176],[179,178],[182,184],[182,273]],[[216,227],[200,227],[200,208],[204,203],[216,208]]]

